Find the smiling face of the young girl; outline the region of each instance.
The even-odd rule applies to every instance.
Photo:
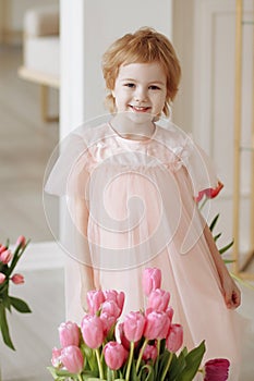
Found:
[[[133,121],[152,121],[164,109],[167,77],[158,62],[120,66],[112,91],[117,112],[128,112]]]

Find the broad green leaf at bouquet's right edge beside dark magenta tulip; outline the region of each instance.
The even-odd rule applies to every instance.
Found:
[[[177,378],[176,381],[192,381],[194,376],[197,373],[202,358],[205,353],[205,341],[203,341],[196,348],[189,352],[185,356],[186,365],[182,373]]]

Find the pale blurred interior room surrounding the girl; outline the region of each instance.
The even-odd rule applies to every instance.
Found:
[[[31,239],[19,263],[25,283],[11,292],[32,309],[8,315],[16,351],[0,339],[0,380],[52,379],[47,367],[64,321],[65,254],[57,244],[58,199],[48,205],[56,217],[50,224],[44,209],[47,164],[72,128],[105,113],[100,56],[142,25],[167,34],[179,54],[183,75],[172,119],[215,161],[225,187],[209,217],[220,213],[221,246],[234,237],[227,258],[241,279],[240,311],[254,316],[254,1],[242,1],[240,24],[237,0],[149,0],[145,12],[133,0],[124,9],[106,3],[0,0],[0,243],[15,244],[21,234]],[[249,325],[253,333],[253,320]],[[247,343],[241,381],[253,380],[253,357]]]

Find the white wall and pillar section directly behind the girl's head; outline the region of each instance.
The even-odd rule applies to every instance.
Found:
[[[61,136],[107,112],[100,70],[105,49],[118,37],[152,26],[171,37],[171,0],[62,0]]]

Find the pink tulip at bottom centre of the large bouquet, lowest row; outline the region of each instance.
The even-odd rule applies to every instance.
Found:
[[[104,347],[105,361],[112,370],[118,370],[122,367],[126,359],[126,351],[118,342],[109,342]]]

